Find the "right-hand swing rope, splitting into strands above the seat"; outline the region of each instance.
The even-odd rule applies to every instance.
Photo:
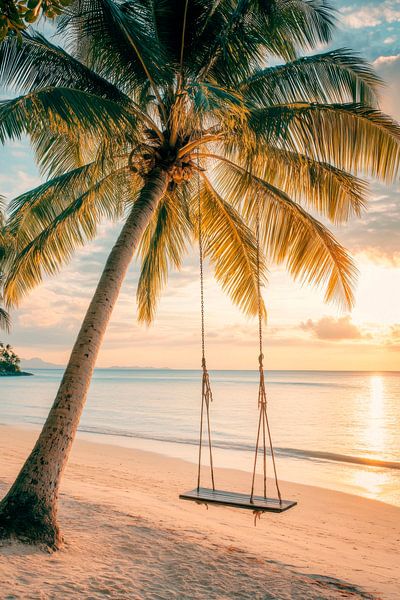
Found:
[[[257,441],[254,453],[254,466],[253,466],[253,477],[251,483],[250,502],[253,502],[254,496],[254,485],[257,470],[257,458],[260,447],[260,437],[262,436],[262,454],[263,454],[263,492],[264,498],[267,498],[267,443],[266,437],[268,435],[269,447],[272,458],[272,465],[274,469],[275,486],[279,498],[279,503],[282,504],[281,491],[279,489],[278,475],[276,471],[275,453],[272,444],[271,430],[269,427],[268,414],[267,414],[267,393],[265,390],[265,375],[264,375],[264,354],[263,354],[263,313],[261,303],[261,274],[260,274],[260,196],[257,194],[257,212],[256,212],[256,244],[257,244],[257,297],[258,297],[258,338],[259,338],[259,356],[258,356],[258,370],[260,376],[260,383],[258,388],[258,409],[259,419],[257,428]]]

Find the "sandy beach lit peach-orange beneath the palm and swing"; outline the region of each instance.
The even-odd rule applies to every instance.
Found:
[[[0,495],[37,433],[0,426]],[[400,509],[285,483],[299,502],[266,514],[178,500],[195,467],[159,454],[78,441],[63,482],[65,546],[0,548],[0,598],[400,599]],[[246,491],[249,475],[220,470]],[[371,596],[370,596],[371,595]]]

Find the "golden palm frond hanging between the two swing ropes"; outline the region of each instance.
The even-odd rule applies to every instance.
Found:
[[[200,211],[204,254],[214,266],[215,277],[222,289],[248,315],[258,313],[257,244],[253,232],[239,212],[222,198],[202,174]],[[198,220],[196,196],[193,213]],[[260,284],[266,277],[260,256]],[[265,306],[262,303],[265,316]]]

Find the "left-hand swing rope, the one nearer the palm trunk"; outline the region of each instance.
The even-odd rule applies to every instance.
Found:
[[[201,480],[201,455],[203,447],[203,423],[204,413],[206,413],[207,433],[208,433],[208,449],[210,457],[210,475],[212,489],[215,490],[214,482],[214,463],[211,442],[211,427],[210,427],[210,402],[212,402],[212,390],[210,377],[207,371],[206,363],[206,344],[205,344],[205,318],[204,318],[204,251],[203,251],[203,230],[201,218],[201,199],[200,199],[200,160],[199,150],[197,149],[197,197],[198,197],[198,235],[199,235],[199,264],[200,264],[200,306],[201,306],[201,368],[202,375],[202,391],[201,391],[201,412],[200,412],[200,439],[199,439],[199,462],[197,470],[197,491],[200,489]],[[205,409],[205,410],[204,410]]]

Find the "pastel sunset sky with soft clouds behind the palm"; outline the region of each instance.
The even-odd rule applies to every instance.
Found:
[[[331,47],[350,47],[372,62],[386,82],[381,104],[400,120],[400,0],[335,2],[340,27]],[[2,97],[5,92],[2,90]],[[26,141],[0,149],[0,193],[8,198],[40,177]],[[335,230],[359,270],[351,313],[323,301],[323,292],[300,287],[270,265],[263,290],[269,369],[400,370],[400,182],[370,182],[369,208]],[[47,279],[13,311],[6,341],[23,358],[65,364],[118,226],[105,223],[97,239]],[[198,368],[200,300],[198,257],[189,252],[172,272],[151,327],[136,320],[134,261],[114,310],[98,366]],[[207,354],[210,369],[257,368],[257,323],[224,296],[206,267]],[[3,335],[4,338],[4,335]]]

